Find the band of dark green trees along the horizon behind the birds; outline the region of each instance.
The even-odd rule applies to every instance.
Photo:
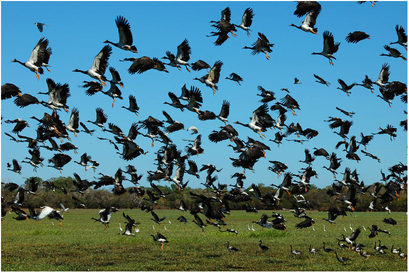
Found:
[[[28,181],[31,178],[28,178],[25,182],[24,186],[27,186]],[[23,207],[27,207],[28,204],[33,206],[50,206],[53,208],[59,208],[60,204],[63,204],[65,207],[69,208],[76,208],[74,201],[72,200],[71,196],[77,197],[81,200],[89,209],[99,209],[101,208],[100,204],[110,205],[116,207],[118,209],[137,209],[141,207],[141,204],[145,203],[148,205],[152,205],[150,202],[143,200],[137,196],[137,194],[129,194],[125,193],[122,195],[115,195],[113,194],[110,189],[100,188],[97,190],[93,190],[91,188],[87,189],[85,192],[85,196],[79,194],[78,192],[70,192],[71,190],[75,190],[75,186],[73,185],[73,178],[72,177],[58,177],[58,178],[51,178],[48,181],[53,182],[56,187],[63,187],[67,190],[67,194],[64,194],[61,190],[56,189],[55,191],[47,190],[42,186],[42,180],[36,177],[36,180],[40,183],[38,186],[38,190],[36,191],[36,197],[32,194],[26,194],[25,202],[23,203]],[[260,183],[257,185],[260,189],[262,195],[266,194],[267,192],[275,192],[277,188],[273,188],[270,186],[265,186],[264,184]],[[203,191],[202,188],[191,188],[187,186],[183,194],[180,194],[178,188],[175,184],[169,185],[161,185],[158,184],[157,187],[162,190],[164,193],[169,193],[166,196],[166,202],[163,201],[163,198],[157,201],[157,209],[176,209],[180,205],[180,201],[183,199],[184,202],[188,207],[193,206],[193,201],[189,192],[194,192],[196,194],[205,194],[210,195]],[[131,187],[128,187],[129,189]],[[144,187],[141,188],[145,190],[154,191],[151,187]],[[332,186],[327,186],[325,188],[317,188],[315,185],[311,184],[310,189],[308,192],[303,194],[304,198],[308,200],[313,210],[317,211],[328,211],[330,207],[337,207],[340,206],[341,203],[339,201],[334,200],[333,197],[330,197],[326,192],[328,189],[332,188]],[[251,187],[243,189],[244,191],[248,192]],[[382,190],[381,190],[382,191]],[[4,190],[2,188],[2,197],[5,198],[6,202],[12,202],[15,198],[16,192],[10,192],[8,190]],[[346,194],[346,192],[344,192]],[[210,196],[213,196],[210,195]],[[285,209],[292,209],[293,203],[296,201],[293,195],[291,197],[284,192],[280,204],[277,205],[275,208],[271,208],[267,205],[260,204],[256,198],[254,199],[254,203],[249,203],[252,207],[255,207],[257,210],[281,210]],[[299,200],[301,197],[298,198]],[[369,193],[365,195],[356,194],[356,211],[369,211],[368,206],[372,201],[372,197]],[[391,211],[406,211],[407,210],[407,193],[400,192],[399,193],[399,200],[397,197],[394,197],[393,203],[389,206]],[[220,206],[219,204],[215,204],[215,207]],[[229,203],[231,210],[245,210],[245,203]],[[79,206],[77,206],[80,208]],[[374,211],[384,211],[381,204],[376,204],[374,207]]]

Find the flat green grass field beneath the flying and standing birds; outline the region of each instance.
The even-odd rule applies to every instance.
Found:
[[[122,212],[141,222],[137,236],[120,236],[119,223],[125,219]],[[159,217],[166,216],[165,225],[158,226],[150,220],[150,213],[140,210],[120,210],[112,214],[109,228],[104,230],[100,222],[94,222],[91,217],[98,217],[98,210],[70,209],[63,214],[62,227],[57,221],[43,219],[38,224],[34,220],[16,221],[15,214],[5,216],[2,224],[2,270],[3,271],[406,271],[407,260],[387,251],[380,255],[374,250],[375,239],[394,248],[400,246],[407,254],[407,215],[393,212],[390,215],[383,212],[356,212],[346,219],[338,217],[336,225],[331,229],[326,212],[313,211],[311,217],[315,225],[308,229],[298,230],[295,225],[299,219],[292,213],[282,211],[287,220],[286,231],[265,230],[254,224],[255,231],[248,231],[247,224],[258,221],[262,212],[257,215],[243,211],[233,211],[231,217],[226,217],[227,228],[235,229],[233,233],[219,232],[216,227],[208,226],[206,233],[193,222],[193,216],[185,213],[188,224],[180,223],[176,218],[180,211],[155,210]],[[266,212],[270,215],[270,211]],[[394,218],[396,227],[382,222],[383,218]],[[200,215],[203,221],[205,216]],[[168,219],[171,221],[169,224]],[[389,230],[391,237],[379,233],[376,238],[368,238],[367,231],[359,235],[357,242],[366,245],[365,251],[374,253],[367,261],[365,258],[349,250],[340,250],[335,238],[342,238],[341,233],[349,236],[352,228],[358,226]],[[155,227],[153,231],[152,225]],[[165,230],[165,227],[166,229]],[[326,232],[324,232],[324,227]],[[125,224],[121,224],[124,229]],[[347,232],[344,231],[347,229]],[[169,240],[164,250],[154,242],[150,234],[160,232]],[[237,247],[239,252],[228,253],[225,241]],[[270,247],[261,252],[258,241]],[[323,242],[326,247],[335,249],[338,256],[351,258],[345,265],[340,264],[333,253],[321,251],[316,255],[308,252],[308,244],[321,249]],[[289,245],[302,252],[298,256],[290,254]]]

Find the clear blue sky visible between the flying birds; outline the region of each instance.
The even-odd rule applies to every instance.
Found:
[[[360,179],[366,184],[371,184],[379,181],[380,169],[387,171],[388,167],[399,161],[407,163],[407,133],[399,127],[399,122],[407,118],[403,113],[407,105],[401,103],[399,97],[396,97],[390,108],[376,96],[379,94],[377,88],[372,94],[368,89],[356,86],[348,97],[344,92],[336,89],[339,87],[337,79],[343,79],[347,84],[360,83],[365,75],[368,75],[375,81],[382,64],[388,62],[391,66],[390,81],[407,83],[407,62],[379,56],[381,53],[386,53],[383,49],[384,44],[397,40],[396,24],[403,26],[407,31],[407,3],[378,2],[375,8],[372,8],[369,3],[358,5],[356,2],[320,2],[320,4],[322,11],[315,25],[318,28],[318,35],[314,35],[288,26],[291,23],[300,25],[304,20],[293,15],[297,5],[295,2],[2,2],[2,85],[13,83],[23,93],[35,95],[39,100],[45,101],[48,100],[46,95],[36,93],[47,91],[47,78],[57,83],[68,83],[71,97],[67,104],[70,110],[73,107],[79,109],[80,121],[95,120],[95,109],[102,107],[108,115],[108,122],[118,125],[126,133],[132,122],[143,120],[149,115],[161,120],[165,119],[162,115],[162,110],[165,110],[173,119],[183,122],[186,129],[190,126],[199,129],[205,153],[191,159],[199,167],[201,164],[208,163],[216,165],[217,168],[222,167],[223,171],[217,175],[219,182],[226,184],[235,184],[235,180],[230,179],[230,176],[236,171],[242,171],[234,168],[229,159],[229,157],[237,158],[238,154],[233,153],[232,148],[226,146],[230,141],[212,143],[208,140],[210,132],[219,130],[219,127],[224,124],[219,120],[200,121],[192,112],[181,112],[164,105],[165,101],[170,102],[168,92],[172,91],[180,95],[180,88],[185,83],[188,87],[194,85],[202,92],[201,109],[211,110],[216,114],[220,111],[223,100],[228,100],[231,103],[228,120],[239,132],[239,138],[246,140],[249,136],[260,140],[256,133],[248,128],[234,125],[233,122],[238,120],[247,123],[252,112],[261,105],[260,97],[256,96],[258,85],[274,91],[278,100],[287,94],[280,89],[288,88],[290,95],[300,104],[301,111],[297,111],[298,116],[287,112],[286,124],[299,122],[303,129],[315,129],[319,131],[319,135],[305,142],[304,145],[284,140],[283,144],[277,147],[276,143],[267,141],[274,139],[277,130],[268,130],[264,143],[270,146],[271,151],[266,152],[266,159],[262,158],[255,164],[255,173],[246,171],[247,179],[244,181],[244,186],[248,187],[251,183],[277,184],[282,181],[282,177],[277,179],[275,173],[267,170],[270,166],[268,160],[284,162],[289,166],[289,171],[297,173],[300,168],[307,166],[299,162],[304,160],[304,149],[309,148],[313,151],[313,147],[323,147],[329,153],[335,152],[343,159],[339,172],[343,172],[345,167],[357,168]],[[232,22],[236,24],[240,23],[247,7],[253,8],[255,16],[251,26],[252,35],[247,37],[243,30],[238,29],[237,37],[231,37],[221,46],[214,46],[215,37],[206,37],[214,31],[209,21],[219,20],[220,12],[226,6],[230,6]],[[15,16],[15,11],[25,16]],[[95,55],[104,46],[103,41],[108,39],[118,42],[118,29],[115,24],[118,15],[124,16],[130,23],[133,44],[137,46],[138,53],[125,52],[117,47],[112,48],[109,66],[119,71],[125,87],[121,89],[124,100],[116,100],[115,106],[111,108],[110,97],[102,93],[94,96],[85,95],[85,90],[78,85],[81,85],[82,81],[92,79],[72,70],[89,69]],[[43,22],[50,26],[44,26],[43,32],[40,33],[34,22]],[[322,51],[322,33],[325,30],[332,32],[335,42],[341,43],[338,52],[334,55],[336,57],[334,66],[330,66],[328,60],[322,56],[311,55],[312,52]],[[367,32],[371,39],[362,40],[357,44],[347,43],[345,41],[347,34],[358,30]],[[270,60],[266,60],[264,54],[252,56],[251,51],[242,49],[243,46],[251,46],[257,40],[257,32],[264,33],[269,41],[275,44],[272,53],[269,54]],[[49,39],[53,54],[49,62],[51,72],[45,71],[37,81],[35,73],[10,61],[14,58],[22,62],[27,61],[41,37]],[[206,71],[192,70],[189,73],[184,68],[179,71],[169,67],[170,73],[148,70],[141,75],[129,75],[127,69],[131,63],[119,61],[123,58],[142,56],[161,58],[168,50],[176,54],[177,45],[185,38],[192,48],[189,62],[201,59],[210,65],[217,60],[224,63],[220,81],[217,84],[219,90],[215,95],[209,87],[193,80],[195,77],[200,78],[205,75]],[[392,47],[397,48],[407,57],[402,46],[394,44]],[[107,78],[110,79],[108,69],[106,72]],[[241,86],[224,79],[232,72],[244,79]],[[330,82],[330,87],[316,83],[314,73]],[[294,85],[294,77],[300,79],[302,84]],[[128,106],[129,94],[137,98],[141,108],[139,117],[120,108]],[[270,102],[269,106],[275,102]],[[37,122],[30,119],[30,116],[41,118],[44,112],[50,113],[49,109],[37,105],[20,109],[13,104],[13,99],[2,101],[1,106],[4,119],[23,118],[29,122],[30,128],[20,133],[25,136],[35,136]],[[361,132],[364,135],[376,133],[379,131],[378,127],[385,128],[387,124],[398,128],[398,137],[395,141],[391,142],[387,135],[376,135],[367,146],[367,152],[377,155],[381,163],[363,156],[360,152],[359,156],[362,160],[357,163],[345,158],[346,152],[342,149],[335,150],[335,144],[342,138],[333,134],[333,130],[323,120],[328,116],[351,119],[337,111],[335,107],[356,113],[352,118],[354,125],[351,127],[349,136],[355,135],[358,140]],[[70,113],[62,112],[60,118],[67,123]],[[270,114],[273,118],[277,118],[277,113],[270,111]],[[100,163],[97,173],[102,172],[111,176],[115,174],[118,167],[124,169],[127,164],[132,164],[138,169],[138,173],[144,175],[141,185],[149,184],[145,180],[146,171],[156,169],[153,165],[154,152],[161,147],[162,143],[155,141],[154,147],[151,148],[150,139],[138,136],[137,143],[149,153],[125,162],[115,154],[116,150],[112,145],[96,138],[98,136],[113,139],[112,134],[101,132],[99,128],[88,122],[86,125],[88,129],[97,131],[94,136],[80,133],[77,138],[71,137],[72,143],[79,147],[78,155],[72,151],[66,152],[73,158],[72,161],[79,161],[80,155],[86,152]],[[4,132],[10,132],[13,127],[14,125],[4,122],[2,124],[2,180],[21,184],[25,181],[23,177],[39,176],[46,180],[60,176],[58,170],[46,166],[38,168],[35,173],[32,166],[25,163],[21,163],[22,176],[6,170],[6,163],[11,162],[13,158],[22,161],[29,156],[26,143],[13,142],[4,135]],[[142,131],[146,133],[146,130]],[[169,137],[180,150],[184,150],[187,142],[181,139],[193,139],[195,136],[191,136],[186,131],[179,131],[170,134]],[[288,139],[296,138],[294,135],[288,137]],[[57,143],[60,144],[59,140]],[[121,145],[120,150],[122,151]],[[46,161],[53,155],[54,153],[41,149],[41,156],[46,158],[44,164],[47,165]],[[325,187],[333,182],[332,174],[322,166],[329,166],[329,161],[323,157],[315,159],[312,165],[319,174],[319,179],[312,178],[311,183],[319,187]],[[73,172],[79,173],[81,178],[88,180],[93,180],[95,175],[92,170],[84,171],[74,162],[70,162],[63,168],[62,175],[72,176]],[[184,181],[190,180],[190,186],[198,187],[199,183],[204,183],[206,178],[205,172],[200,175],[201,178],[196,179],[186,174]],[[337,179],[342,179],[342,175],[338,175]],[[126,186],[132,185],[129,182],[124,183]]]

